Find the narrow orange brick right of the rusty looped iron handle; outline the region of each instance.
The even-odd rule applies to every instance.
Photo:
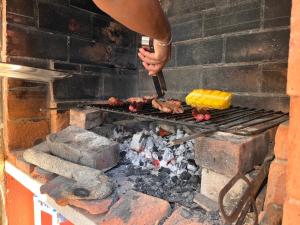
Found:
[[[286,197],[286,170],[286,161],[275,160],[272,162],[269,171],[265,208],[270,203],[283,205]]]

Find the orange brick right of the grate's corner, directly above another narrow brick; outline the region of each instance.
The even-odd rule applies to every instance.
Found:
[[[289,122],[278,126],[275,136],[274,152],[277,159],[287,160]]]

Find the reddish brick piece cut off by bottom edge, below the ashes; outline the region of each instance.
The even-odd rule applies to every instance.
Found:
[[[199,218],[186,219],[183,210],[181,207],[176,209],[163,225],[204,225],[198,222]]]

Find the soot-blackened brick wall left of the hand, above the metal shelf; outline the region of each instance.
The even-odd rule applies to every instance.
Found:
[[[112,80],[129,87],[113,95],[133,94],[129,77],[137,80],[136,34],[92,0],[6,2],[7,62],[73,74],[54,83],[56,98],[103,97],[111,94]]]

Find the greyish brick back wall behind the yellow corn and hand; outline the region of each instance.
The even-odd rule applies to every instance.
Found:
[[[164,70],[169,96],[213,88],[234,92],[237,105],[288,110],[289,0],[164,0],[163,7],[174,40]],[[153,89],[140,69],[140,94]]]

